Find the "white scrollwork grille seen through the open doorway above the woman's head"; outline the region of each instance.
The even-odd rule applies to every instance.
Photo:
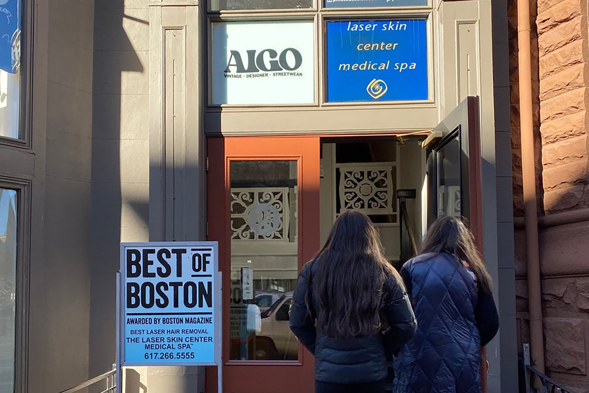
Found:
[[[358,210],[365,214],[395,214],[393,206],[392,162],[337,164],[339,168],[340,211]]]

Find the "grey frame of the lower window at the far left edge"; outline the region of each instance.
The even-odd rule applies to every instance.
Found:
[[[16,191],[15,393],[28,391],[31,184],[29,180],[0,175],[0,188]]]

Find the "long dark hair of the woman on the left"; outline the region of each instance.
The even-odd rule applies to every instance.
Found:
[[[385,281],[392,278],[403,284],[386,261],[378,231],[367,215],[340,215],[311,263],[317,265],[311,285],[320,331],[328,337],[352,338],[381,327]]]

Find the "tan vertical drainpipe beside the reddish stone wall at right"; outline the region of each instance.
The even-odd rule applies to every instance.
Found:
[[[532,115],[532,67],[530,35],[530,0],[517,0],[519,120],[521,126],[521,166],[524,186],[525,237],[528,256],[528,309],[530,344],[534,368],[544,374],[544,335],[540,288],[540,252],[534,159],[534,120]]]

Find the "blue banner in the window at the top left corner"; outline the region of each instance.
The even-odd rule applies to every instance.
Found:
[[[0,0],[0,69],[11,74],[18,71],[20,64],[20,59],[13,59],[15,54],[20,55],[20,2],[21,0]]]

